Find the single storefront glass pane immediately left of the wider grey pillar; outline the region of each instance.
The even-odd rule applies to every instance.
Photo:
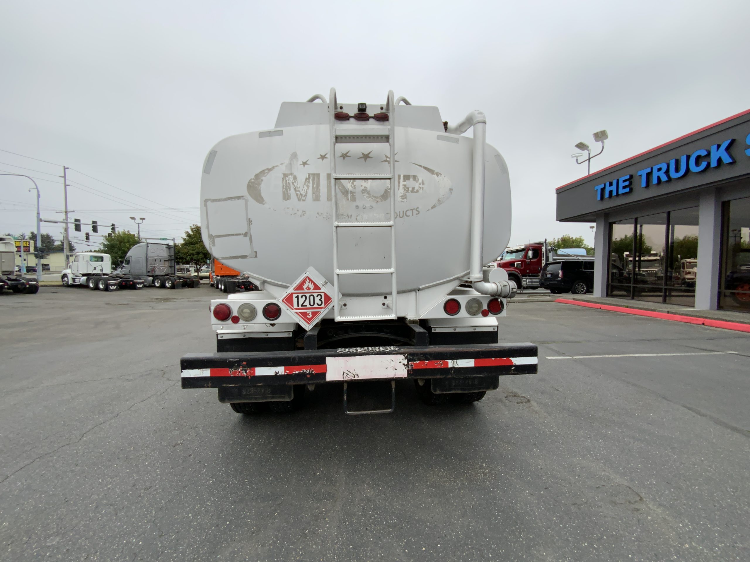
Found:
[[[671,304],[695,306],[695,276],[698,257],[698,208],[669,214],[669,259],[667,298]]]

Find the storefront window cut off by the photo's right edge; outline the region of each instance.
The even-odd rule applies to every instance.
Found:
[[[750,197],[724,203],[718,306],[750,312]]]

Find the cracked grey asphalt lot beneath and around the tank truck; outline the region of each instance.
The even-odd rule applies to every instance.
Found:
[[[476,405],[242,417],[179,384],[217,295],[0,294],[2,560],[750,559],[748,334],[516,303]]]

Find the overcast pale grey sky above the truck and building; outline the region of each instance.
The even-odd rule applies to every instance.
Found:
[[[588,224],[554,220],[555,187],[586,171],[574,144],[606,129],[599,169],[750,108],[748,22],[747,0],[1,1],[0,171],[49,180],[51,218],[70,166],[72,217],[179,236],[215,142],[332,86],[349,102],[393,89],[448,121],[487,114],[511,243],[592,244]],[[1,232],[34,229],[28,184],[0,176]]]

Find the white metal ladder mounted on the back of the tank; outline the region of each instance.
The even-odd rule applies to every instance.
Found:
[[[389,114],[389,128],[385,127],[337,127],[335,113],[338,111],[338,101],[336,99],[336,89],[331,88],[329,97],[329,123],[331,131],[331,181],[333,184],[332,196],[332,223],[333,223],[333,268],[334,268],[334,317],[335,321],[357,321],[357,320],[389,320],[398,318],[396,310],[396,160],[395,160],[395,112],[396,104],[393,97],[393,90],[388,92],[385,112]],[[389,164],[390,172],[388,174],[338,174],[336,172],[336,145],[351,143],[374,143],[387,142],[389,145]],[[365,160],[366,162],[366,160]],[[338,186],[337,180],[389,180],[391,184],[390,191],[390,220],[385,222],[339,222],[338,220]],[[363,229],[379,227],[389,229],[391,235],[391,267],[375,269],[340,269],[338,262],[338,229]],[[391,275],[391,311],[388,314],[378,315],[341,315],[341,302],[339,299],[339,276],[341,275]]]

